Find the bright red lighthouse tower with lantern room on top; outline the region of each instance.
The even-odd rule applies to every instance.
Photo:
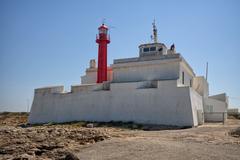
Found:
[[[107,81],[107,44],[110,43],[108,35],[108,27],[102,24],[98,28],[98,36],[96,42],[98,43],[98,70],[97,83]]]

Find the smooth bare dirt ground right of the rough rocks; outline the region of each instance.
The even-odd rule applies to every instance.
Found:
[[[94,160],[239,160],[240,138],[229,131],[239,120],[206,124],[198,128],[162,131],[123,131],[118,136],[84,146],[80,159]]]

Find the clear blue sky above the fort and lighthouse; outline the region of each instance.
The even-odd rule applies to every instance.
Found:
[[[97,28],[110,28],[108,64],[138,56],[158,38],[175,44],[197,75],[209,65],[210,95],[240,109],[239,0],[0,0],[0,112],[27,111],[34,89],[80,84],[97,59]]]

